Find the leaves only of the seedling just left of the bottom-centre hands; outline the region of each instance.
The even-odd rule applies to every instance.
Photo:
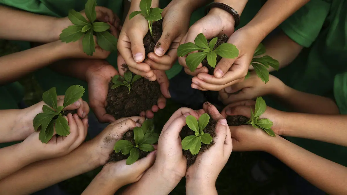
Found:
[[[126,164],[133,164],[139,158],[140,150],[145,152],[151,152],[154,147],[151,144],[158,142],[159,134],[154,133],[154,126],[152,120],[146,120],[142,127],[134,128],[134,139],[135,144],[128,140],[119,140],[116,142],[115,150],[116,153],[122,152],[123,155],[130,153]]]

